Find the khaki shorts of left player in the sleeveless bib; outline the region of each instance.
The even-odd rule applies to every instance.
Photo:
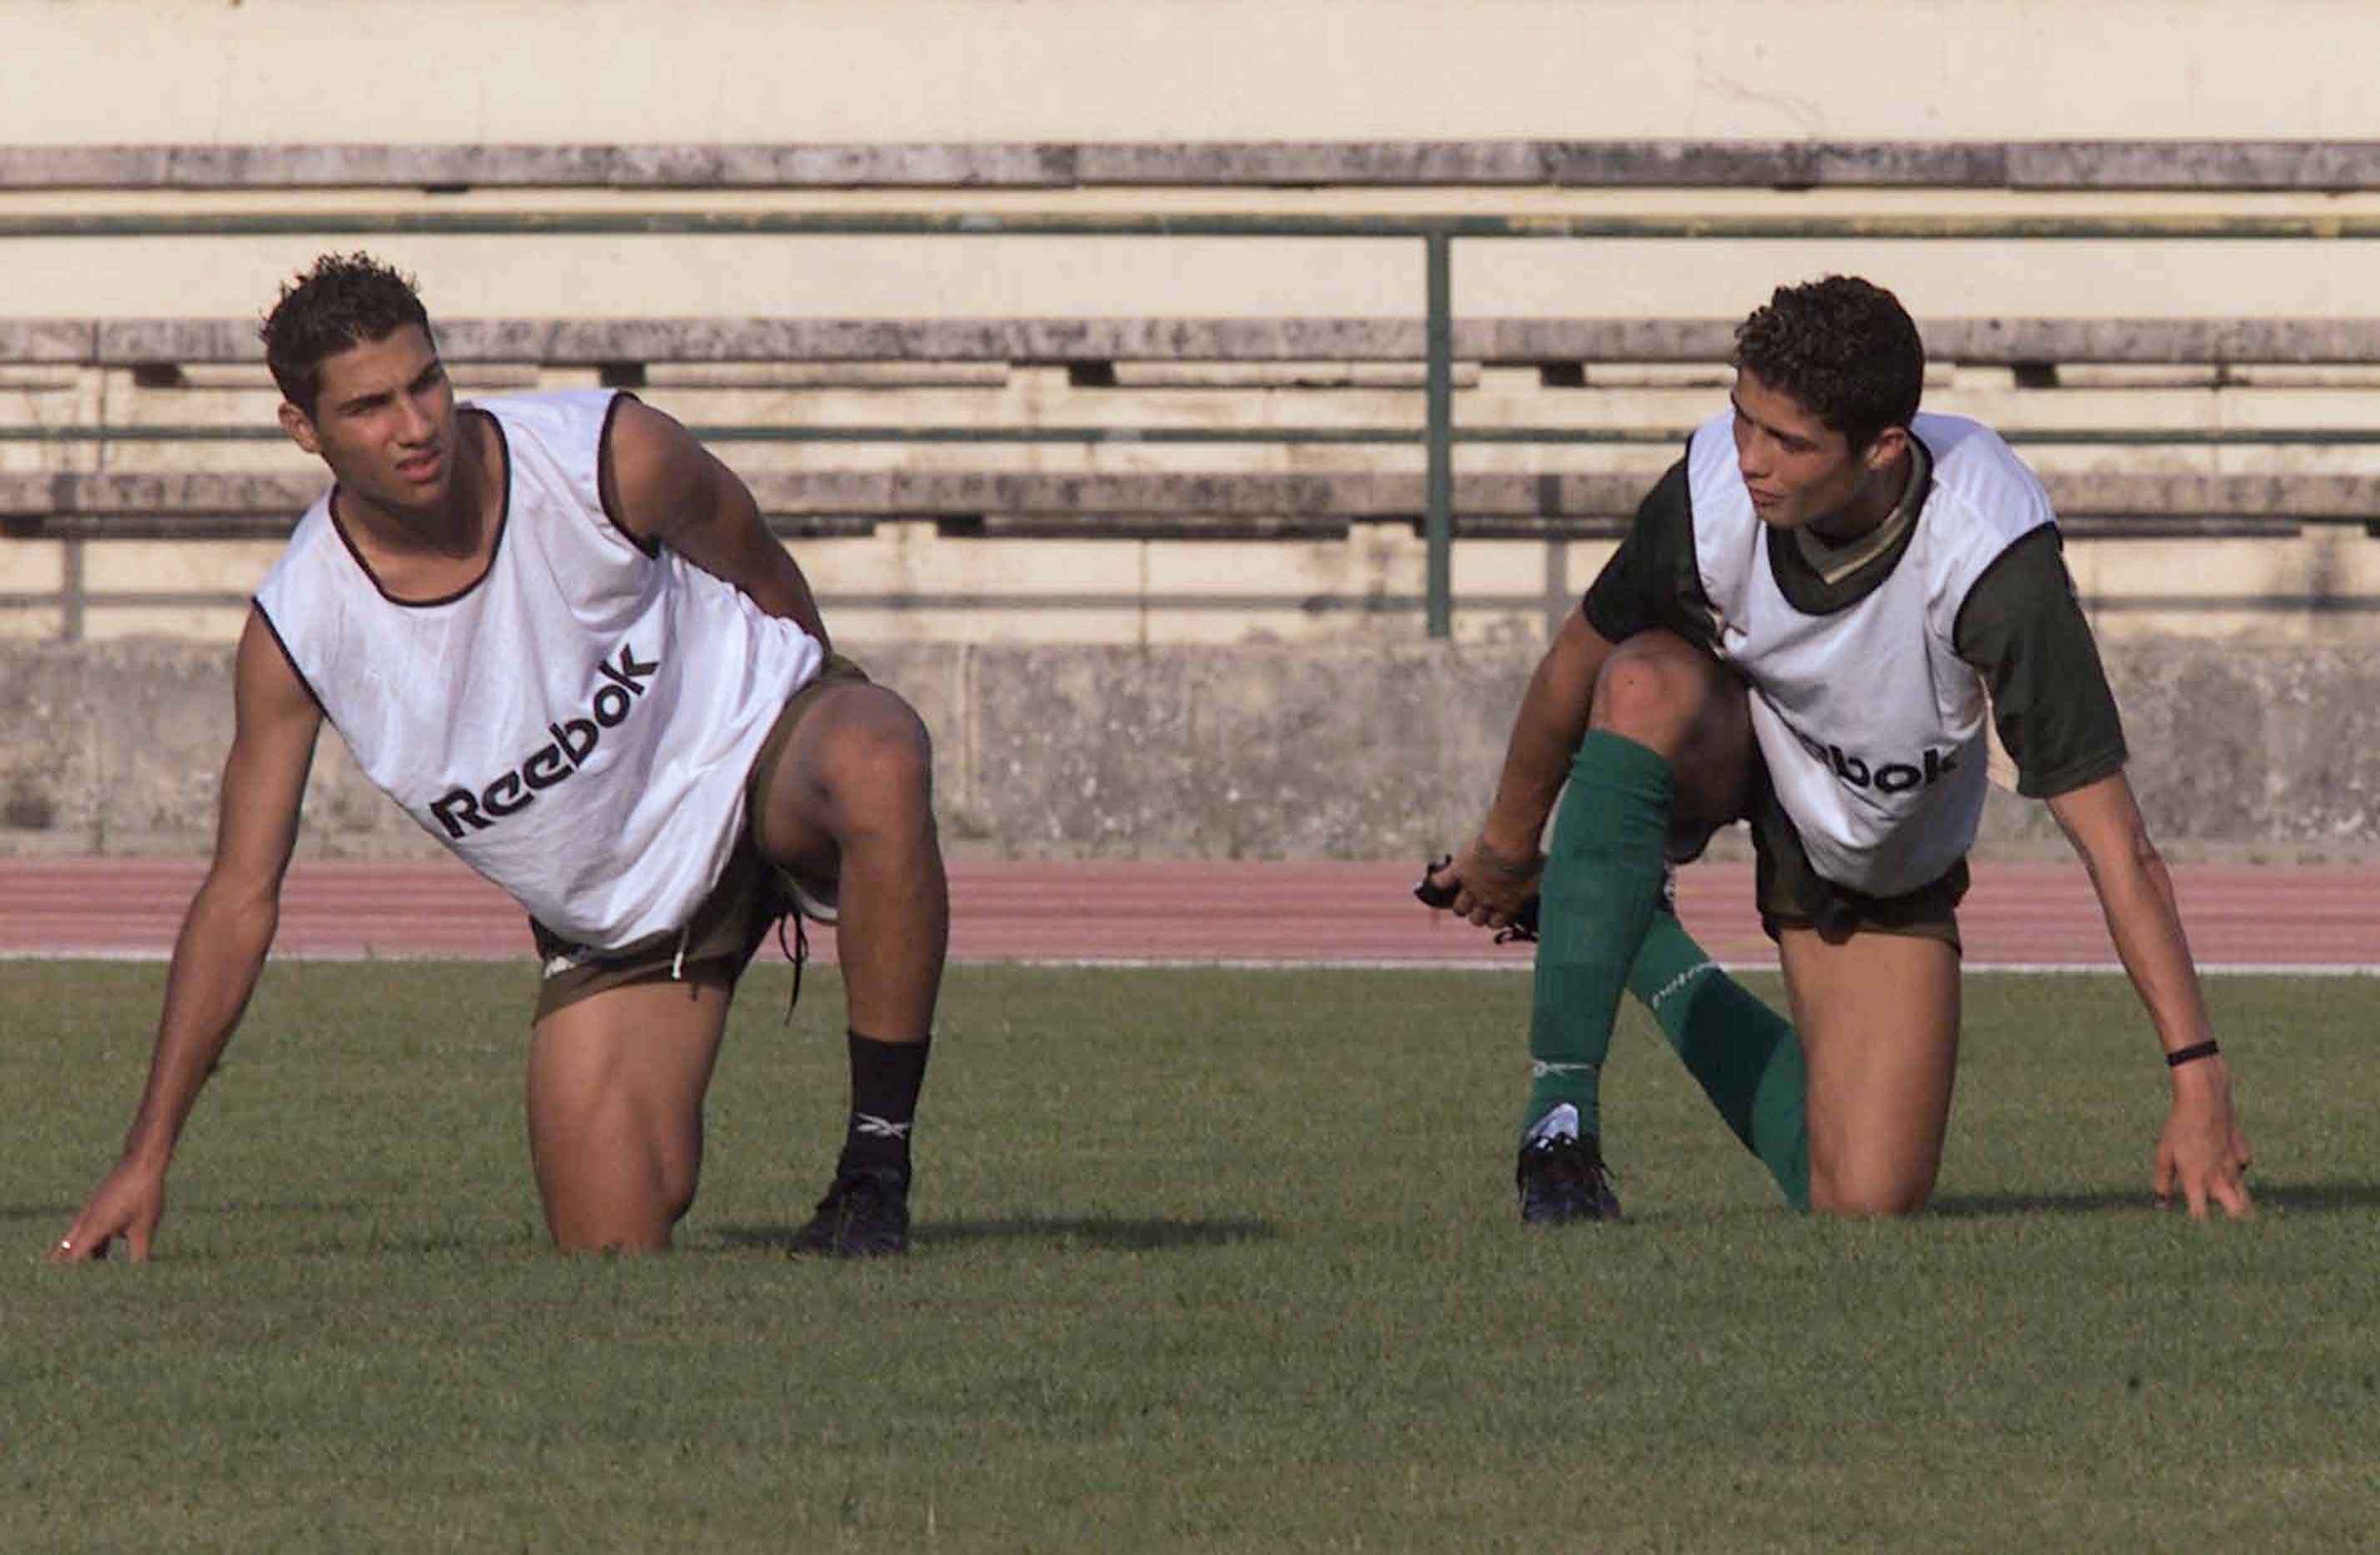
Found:
[[[759,754],[752,756],[752,770],[745,775],[743,835],[735,837],[719,884],[695,906],[695,915],[683,927],[647,934],[614,951],[595,951],[562,939],[536,918],[528,920],[528,932],[538,944],[538,963],[545,968],[538,984],[538,1020],[593,994],[638,982],[683,977],[733,984],[743,975],[769,930],[795,904],[793,877],[762,858],[752,842],[752,811],[785,754],[785,742],[793,739],[802,716],[816,706],[819,694],[833,685],[854,682],[866,682],[866,671],[843,654],[828,654],[819,673],[785,699]]]

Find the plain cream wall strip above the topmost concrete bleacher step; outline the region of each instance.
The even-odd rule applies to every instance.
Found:
[[[2380,133],[2361,0],[0,0],[0,138]]]

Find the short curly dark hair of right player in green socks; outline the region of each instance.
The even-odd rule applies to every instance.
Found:
[[[1925,342],[1899,297],[1859,276],[1780,285],[1735,326],[1735,366],[1844,435],[1854,452],[1909,426]]]

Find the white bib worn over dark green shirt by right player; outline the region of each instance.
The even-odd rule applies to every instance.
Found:
[[[1752,687],[1778,804],[1818,875],[1871,896],[1937,880],[1975,842],[1987,704],[1952,632],[1992,561],[2054,523],[2040,480],[1990,428],[1921,414],[1911,433],[1935,461],[1916,535],[1873,592],[1825,616],[1778,587],[1768,525],[1735,464],[1733,411],[1687,447],[1716,651]]]

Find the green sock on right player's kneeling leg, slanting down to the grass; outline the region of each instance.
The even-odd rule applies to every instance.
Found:
[[[1645,930],[1628,991],[1652,1011],[1711,1106],[1775,1177],[1785,1203],[1806,1210],[1809,1077],[1792,1022],[1718,970],[1666,906]]]

